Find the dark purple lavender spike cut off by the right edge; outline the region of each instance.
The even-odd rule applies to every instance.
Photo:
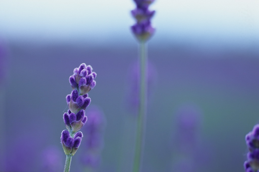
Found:
[[[247,161],[244,162],[246,172],[259,171],[259,124],[256,124],[251,132],[246,135],[246,144],[249,149]]]

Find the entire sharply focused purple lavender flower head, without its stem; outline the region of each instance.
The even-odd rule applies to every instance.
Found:
[[[61,133],[61,143],[66,155],[73,156],[76,153],[83,137],[82,132],[77,131],[87,122],[84,110],[91,102],[87,93],[96,85],[96,73],[92,70],[90,65],[82,63],[69,77],[73,91],[66,96],[69,110],[64,113],[63,119],[67,130]]]

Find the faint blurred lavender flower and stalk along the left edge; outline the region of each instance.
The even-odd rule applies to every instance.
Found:
[[[0,40],[0,111],[5,114],[5,77],[7,70],[7,50],[4,44]],[[4,115],[0,115],[0,135],[1,138],[5,138],[5,118]],[[0,140],[0,170],[5,169],[6,166],[6,151],[5,151],[5,139]]]

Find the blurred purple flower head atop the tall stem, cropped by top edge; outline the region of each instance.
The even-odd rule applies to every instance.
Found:
[[[154,16],[155,11],[150,11],[148,6],[154,0],[134,0],[137,8],[131,11],[132,16],[137,23],[131,27],[132,32],[140,41],[147,41],[153,35],[155,29],[151,26],[150,19]]]

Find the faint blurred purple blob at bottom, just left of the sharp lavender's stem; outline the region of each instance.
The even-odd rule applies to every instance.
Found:
[[[62,152],[54,147],[50,146],[44,149],[42,152],[42,169],[46,172],[57,172],[62,171],[63,163]]]

